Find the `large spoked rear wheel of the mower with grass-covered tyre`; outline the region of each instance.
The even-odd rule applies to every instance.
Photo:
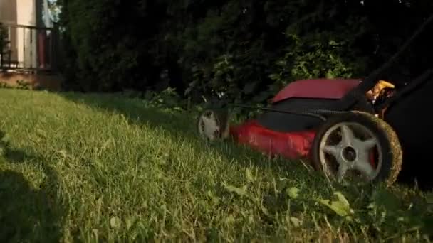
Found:
[[[392,127],[366,112],[330,117],[312,146],[313,166],[340,182],[395,183],[402,167],[402,148]]]

